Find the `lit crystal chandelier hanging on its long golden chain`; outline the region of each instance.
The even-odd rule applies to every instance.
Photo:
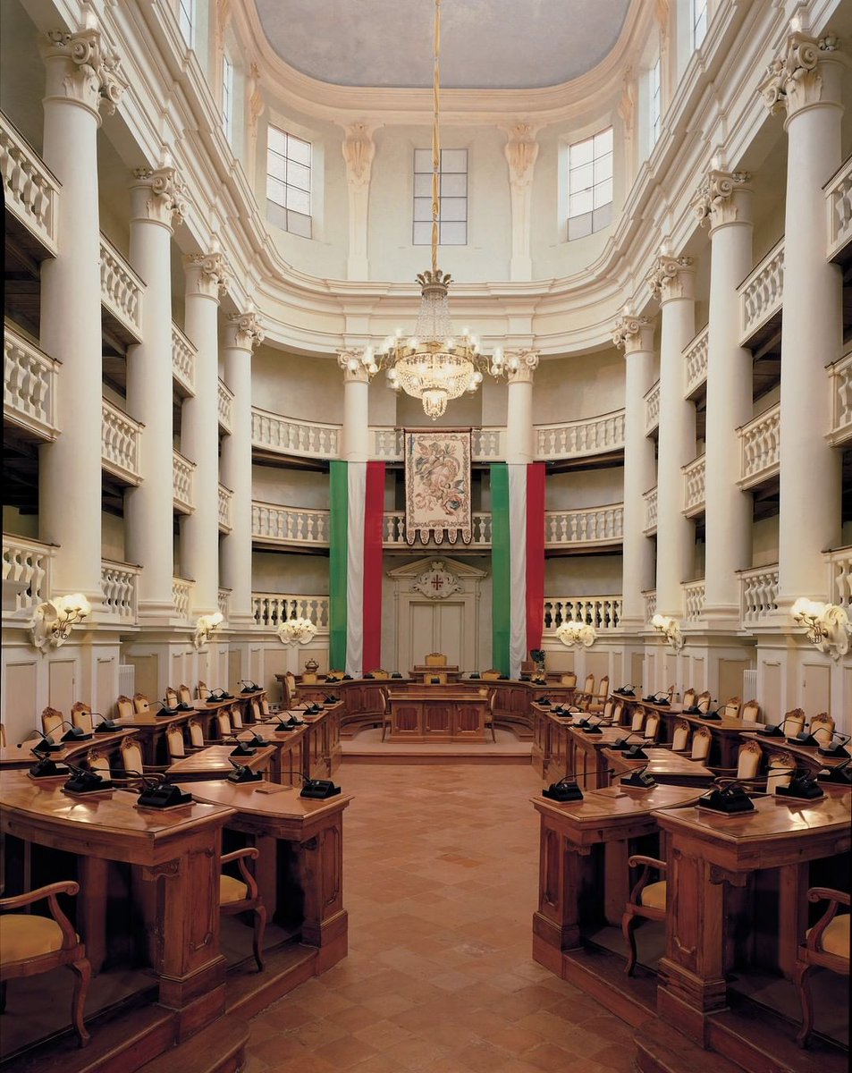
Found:
[[[469,328],[460,336],[453,333],[450,321],[447,288],[449,273],[438,267],[438,224],[440,219],[440,166],[441,147],[438,130],[440,101],[439,54],[441,38],[441,0],[435,0],[434,50],[434,123],[432,123],[432,183],[431,183],[431,268],[417,276],[421,285],[421,307],[414,334],[402,337],[402,329],[388,336],[378,347],[361,351],[344,351],[340,364],[353,372],[363,368],[368,377],[379,369],[386,369],[388,386],[403,391],[423,402],[423,409],[432,421],[446,411],[446,403],[465,392],[473,394],[485,372],[501,377],[506,370],[517,368],[517,357],[509,362],[502,349],[495,348],[490,358],[480,353],[480,341]]]

